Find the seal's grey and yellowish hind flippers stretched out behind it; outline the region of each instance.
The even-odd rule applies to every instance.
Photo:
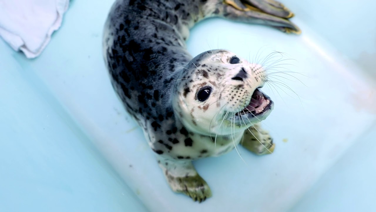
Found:
[[[218,8],[213,12],[214,15],[244,23],[267,25],[286,33],[301,33],[301,30],[296,25],[285,19],[293,16],[293,13],[290,12],[290,10],[280,9],[279,7],[268,3],[274,2],[274,4],[277,5],[278,2],[270,0],[268,2],[265,2],[265,0],[220,0],[220,2]],[[258,5],[258,7],[255,5]],[[280,4],[280,7],[282,6],[283,5]],[[287,14],[282,15],[282,13]],[[283,16],[284,18],[279,16]]]

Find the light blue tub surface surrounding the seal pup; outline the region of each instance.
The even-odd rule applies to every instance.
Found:
[[[196,55],[226,48],[293,58],[265,121],[272,155],[239,149],[195,163],[213,197],[174,194],[112,91],[102,59],[109,1],[71,1],[40,57],[0,41],[0,211],[373,211],[376,208],[376,2],[293,1],[300,36],[211,19]],[[281,70],[281,69],[280,69]],[[293,81],[290,81],[293,80]],[[304,83],[304,84],[303,84]]]

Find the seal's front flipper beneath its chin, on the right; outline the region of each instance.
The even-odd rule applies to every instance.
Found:
[[[243,141],[240,144],[256,155],[271,154],[276,146],[269,133],[263,130],[259,124],[254,124],[244,131]]]

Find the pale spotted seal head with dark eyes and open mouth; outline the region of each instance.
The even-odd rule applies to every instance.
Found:
[[[173,109],[186,128],[203,135],[232,135],[264,120],[273,101],[260,88],[261,65],[227,50],[197,55],[173,86]]]

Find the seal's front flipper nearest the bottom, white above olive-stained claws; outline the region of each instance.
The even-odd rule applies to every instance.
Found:
[[[183,193],[199,202],[211,197],[210,187],[190,160],[171,160],[158,156],[158,164],[174,192]]]

